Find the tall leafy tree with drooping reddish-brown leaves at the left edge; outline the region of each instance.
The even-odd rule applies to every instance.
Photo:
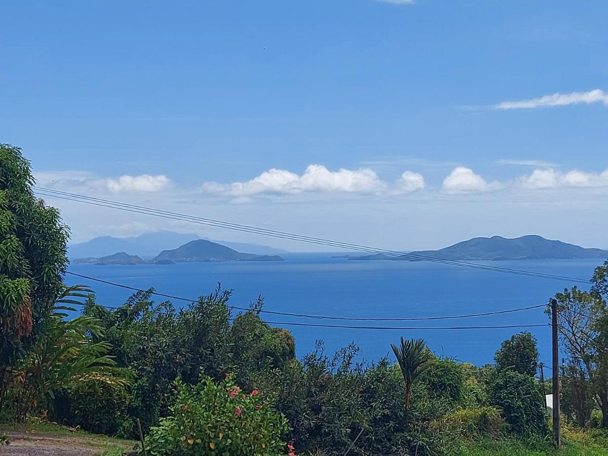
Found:
[[[30,163],[0,144],[0,410],[9,371],[49,318],[66,271],[67,227],[32,192]]]

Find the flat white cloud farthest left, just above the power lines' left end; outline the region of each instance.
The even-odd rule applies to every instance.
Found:
[[[40,187],[78,192],[160,192],[170,187],[171,181],[158,174],[124,175],[118,178],[99,178],[88,171],[42,171],[35,173],[36,184]]]

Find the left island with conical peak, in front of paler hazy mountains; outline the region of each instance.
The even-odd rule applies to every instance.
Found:
[[[278,255],[256,255],[223,246],[204,239],[190,241],[177,249],[163,250],[151,260],[143,260],[137,255],[119,252],[105,257],[86,257],[73,260],[74,264],[95,264],[96,266],[208,263],[216,261],[283,261]]]

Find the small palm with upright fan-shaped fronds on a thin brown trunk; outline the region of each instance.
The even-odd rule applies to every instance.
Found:
[[[391,344],[395,358],[401,369],[401,375],[405,382],[405,406],[406,412],[409,409],[412,401],[412,386],[416,379],[427,370],[434,356],[429,348],[424,343],[424,339],[405,340],[401,337],[399,346]]]

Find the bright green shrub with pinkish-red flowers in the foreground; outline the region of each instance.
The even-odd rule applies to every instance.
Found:
[[[288,452],[281,440],[288,431],[283,415],[275,412],[257,390],[244,395],[226,376],[191,387],[176,380],[177,399],[170,415],[152,427],[146,439],[153,456],[279,455]]]

